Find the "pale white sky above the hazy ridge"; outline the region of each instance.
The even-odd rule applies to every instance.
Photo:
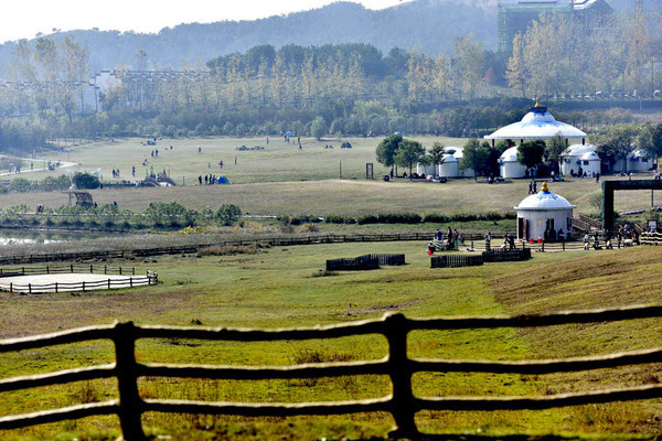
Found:
[[[382,9],[407,0],[352,0]],[[181,23],[253,20],[332,3],[333,0],[4,0],[0,43],[50,34],[53,28],[158,32]]]

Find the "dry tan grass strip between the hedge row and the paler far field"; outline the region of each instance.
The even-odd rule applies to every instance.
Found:
[[[568,180],[549,185],[549,190],[577,205],[581,213],[595,213],[590,196],[601,193],[595,180]],[[446,184],[383,182],[378,180],[328,180],[306,182],[247,183],[237,185],[186,185],[167,189],[125,187],[90,191],[100,204],[118,202],[121,208],[142,212],[150,202],[179,202],[189,208],[237,204],[254,215],[364,215],[375,213],[488,213],[512,212],[528,192],[528,182],[489,185],[471,179],[451,180]],[[29,207],[65,205],[64,193],[0,194],[0,208],[25,203]],[[658,196],[659,204],[662,200]],[[649,191],[617,192],[617,211],[644,209],[651,206]]]

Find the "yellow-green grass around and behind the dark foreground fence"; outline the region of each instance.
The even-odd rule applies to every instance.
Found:
[[[405,252],[407,266],[318,277],[324,260],[367,252]],[[221,252],[222,254],[222,252]],[[590,259],[591,265],[587,265]],[[159,272],[157,287],[110,292],[45,295],[0,294],[0,337],[52,332],[113,320],[140,324],[284,327],[348,322],[399,311],[409,318],[492,315],[566,309],[659,303],[662,249],[639,247],[601,252],[536,254],[527,262],[478,268],[429,268],[424,243],[337,244],[270,248],[241,255],[164,257],[141,262]],[[409,356],[426,358],[526,359],[605,354],[659,345],[660,320],[556,326],[544,330],[415,332]],[[140,362],[286,365],[314,361],[375,359],[386,354],[377,336],[333,341],[236,344],[201,341],[139,342]],[[2,377],[108,363],[110,344],[93,343],[1,357]],[[420,396],[546,395],[569,390],[656,383],[660,366],[572,375],[419,374]],[[320,380],[207,381],[145,378],[143,397],[241,401],[306,401],[388,394],[381,376]],[[0,395],[0,413],[30,411],[116,396],[114,381],[83,381]],[[584,406],[525,412],[421,412],[427,432],[660,433],[655,401]],[[381,413],[331,418],[246,420],[148,415],[147,427],[174,439],[330,439],[384,435],[392,424]],[[266,424],[268,423],[268,424]],[[289,424],[289,426],[288,426]],[[207,426],[211,429],[204,430]],[[184,429],[185,428],[185,429]],[[3,439],[51,439],[54,431],[117,433],[114,418],[85,419],[0,433]],[[199,435],[191,431],[199,430]],[[94,439],[79,438],[79,439]],[[100,435],[97,439],[103,439]]]

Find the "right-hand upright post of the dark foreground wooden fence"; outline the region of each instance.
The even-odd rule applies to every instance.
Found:
[[[386,318],[385,336],[388,341],[388,375],[393,384],[391,413],[397,428],[388,433],[389,438],[417,438],[418,429],[414,392],[412,391],[412,370],[407,358],[407,319],[403,314]]]

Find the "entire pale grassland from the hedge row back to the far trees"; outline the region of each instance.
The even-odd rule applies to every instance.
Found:
[[[446,146],[463,144],[461,139],[425,137],[419,139],[430,147],[439,141]],[[98,204],[118,202],[120,207],[142,212],[150,202],[177,201],[188,207],[201,209],[234,203],[245,213],[257,215],[362,215],[384,212],[426,213],[487,213],[508,212],[526,196],[528,182],[512,180],[488,185],[484,180],[451,180],[447,184],[412,183],[408,180],[383,182],[380,178],[387,171],[376,162],[376,138],[349,139],[352,149],[340,149],[338,140],[303,139],[302,150],[286,144],[281,139],[188,139],[161,140],[159,158],[150,157],[153,147],[139,146],[139,139],[118,142],[96,142],[72,148],[71,151],[49,155],[49,160],[71,160],[81,163],[72,170],[94,171],[102,169],[105,181],[111,178],[111,169],[120,170],[120,180],[132,180],[131,165],[137,168],[137,178],[145,176],[146,169],[154,172],[166,170],[179,184],[170,189],[114,189],[92,191]],[[334,149],[324,149],[332,143]],[[167,150],[172,144],[174,150]],[[236,151],[236,146],[265,146],[264,151]],[[197,154],[197,146],[202,154]],[[146,158],[148,168],[141,166]],[[234,158],[237,157],[237,164]],[[218,161],[224,161],[223,170]],[[339,179],[342,161],[342,178]],[[374,164],[375,180],[365,180],[365,163]],[[211,168],[207,168],[211,164]],[[26,166],[23,166],[26,169]],[[30,180],[43,179],[49,174],[34,172],[21,176]],[[197,176],[213,173],[226,175],[233,185],[199,185]],[[647,178],[642,175],[641,178]],[[608,178],[616,179],[616,178]],[[185,184],[185,185],[181,185]],[[589,198],[601,187],[594,180],[568,180],[551,186],[583,213],[595,212]],[[0,194],[0,208],[25,203],[29,207],[43,204],[57,207],[66,204],[68,196],[61,193]],[[616,209],[630,211],[651,205],[650,192],[620,192],[616,195]]]

